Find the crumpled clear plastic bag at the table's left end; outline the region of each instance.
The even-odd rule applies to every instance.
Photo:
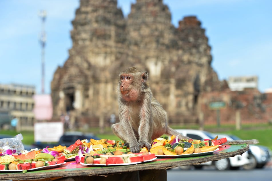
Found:
[[[23,153],[24,145],[22,143],[23,135],[17,134],[13,138],[2,138],[0,139],[0,152],[6,150],[16,150],[16,153]]]

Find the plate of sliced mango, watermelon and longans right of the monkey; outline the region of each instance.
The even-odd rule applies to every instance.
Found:
[[[172,135],[170,140],[167,138],[156,138],[152,142],[150,153],[155,155],[184,155],[192,153],[210,152],[216,150],[220,144],[227,142],[226,138],[200,140],[180,140],[178,135]]]

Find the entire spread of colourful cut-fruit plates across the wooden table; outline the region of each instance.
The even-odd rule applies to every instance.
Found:
[[[212,140],[180,140],[179,135],[156,138],[152,141],[151,149],[141,148],[139,153],[132,153],[124,146],[124,142],[101,139],[77,140],[69,147],[54,146],[43,150],[32,149],[24,154],[16,154],[16,150],[6,150],[0,153],[0,170],[24,170],[64,163],[74,158],[80,164],[134,164],[151,161],[160,155],[183,155],[216,150],[226,138]]]

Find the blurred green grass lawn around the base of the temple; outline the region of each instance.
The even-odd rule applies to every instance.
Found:
[[[171,126],[174,129],[198,129],[197,126]],[[222,125],[220,128],[216,126],[205,126],[205,130],[214,132],[214,133],[225,133],[225,134],[233,134],[238,136],[241,139],[258,139],[259,144],[263,146],[267,146],[272,150],[272,125],[243,125],[241,130],[235,130],[233,126],[225,126]],[[96,134],[99,138],[105,138],[110,140],[120,140],[117,136],[112,133],[111,128],[105,128],[104,133],[99,132],[99,128],[92,128],[88,130],[88,132],[92,132]],[[15,136],[18,132],[13,130],[1,130],[1,134],[8,134],[11,136]],[[34,134],[32,131],[22,131],[23,135],[23,144],[31,145],[34,143]]]

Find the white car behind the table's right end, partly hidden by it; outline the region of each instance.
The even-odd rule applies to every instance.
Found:
[[[188,136],[189,138],[196,140],[204,140],[204,139],[213,139],[217,135],[208,131],[202,130],[192,130],[192,129],[176,129],[177,132],[184,136]],[[228,140],[228,139],[227,139]],[[240,167],[249,164],[250,160],[248,159],[249,153],[248,151],[243,153],[242,155],[236,155],[230,158],[224,158],[217,161],[209,161],[199,165],[193,165],[194,168],[200,169],[203,166],[215,166],[217,170],[229,170],[229,169],[239,169]],[[192,166],[181,166],[181,169],[189,169]]]

